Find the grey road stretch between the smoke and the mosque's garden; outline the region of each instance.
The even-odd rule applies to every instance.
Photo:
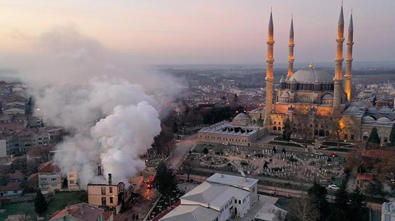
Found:
[[[185,137],[184,140],[175,144],[173,148],[173,157],[169,161],[169,164],[173,166],[174,169],[177,169],[184,160],[184,157],[189,152],[189,150],[196,144],[198,141],[198,134],[193,134],[191,136]]]

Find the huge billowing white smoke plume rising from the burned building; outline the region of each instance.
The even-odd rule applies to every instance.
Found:
[[[179,83],[131,64],[73,25],[29,39],[36,49],[10,58],[7,68],[29,85],[44,122],[70,132],[57,145],[55,164],[64,174],[78,172],[82,188],[105,182],[97,165],[127,184],[127,176],[144,169],[140,156],[161,131],[158,97],[147,92],[167,93]]]

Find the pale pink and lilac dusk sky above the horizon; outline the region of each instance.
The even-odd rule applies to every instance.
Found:
[[[36,39],[62,26],[136,63],[264,63],[272,7],[275,62],[287,60],[291,14],[295,63],[331,62],[340,5],[340,0],[0,0],[0,57],[34,56]],[[345,30],[351,8],[354,61],[395,61],[395,1],[344,0]]]

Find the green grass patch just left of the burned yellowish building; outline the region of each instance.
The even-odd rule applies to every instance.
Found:
[[[88,194],[85,191],[56,192],[48,202],[48,209],[44,215],[51,215],[58,210],[64,209],[67,205],[83,202],[88,203]]]

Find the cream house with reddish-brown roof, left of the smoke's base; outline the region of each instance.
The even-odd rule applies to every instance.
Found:
[[[43,194],[53,194],[62,189],[61,170],[52,161],[38,167],[38,188]]]

